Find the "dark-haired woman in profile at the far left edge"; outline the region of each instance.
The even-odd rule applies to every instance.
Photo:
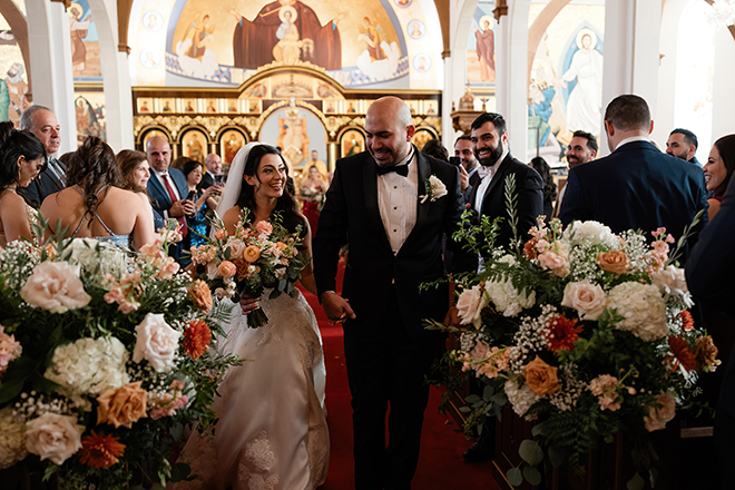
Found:
[[[46,163],[41,141],[28,131],[12,128],[12,122],[0,122],[0,246],[20,238],[36,241],[32,223],[36,209],[18,195],[18,187],[38,177]]]

